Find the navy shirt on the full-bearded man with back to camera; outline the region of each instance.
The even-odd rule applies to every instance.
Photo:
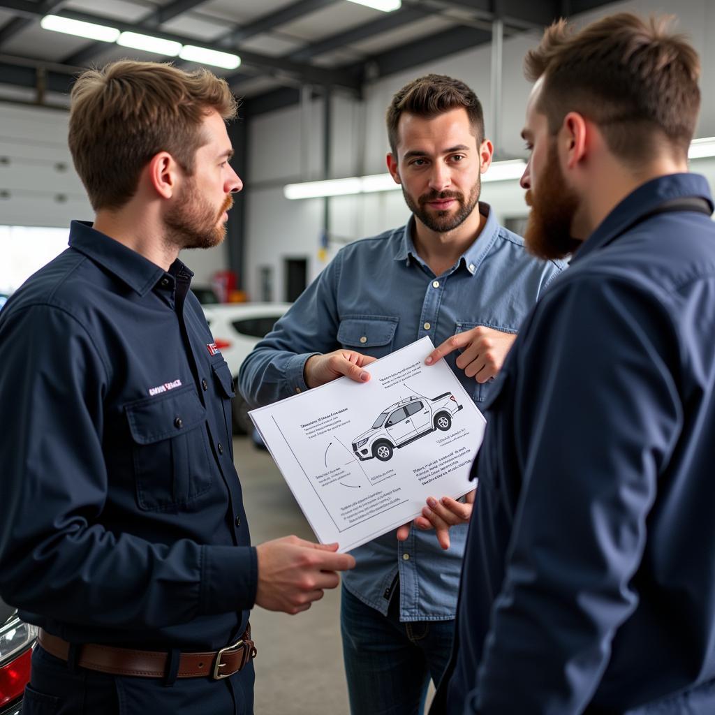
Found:
[[[715,713],[715,225],[646,217],[683,197],[623,199],[493,386],[450,715]]]

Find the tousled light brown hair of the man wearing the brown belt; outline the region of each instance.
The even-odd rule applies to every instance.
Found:
[[[94,210],[124,206],[159,152],[192,174],[206,142],[199,127],[212,109],[232,119],[237,102],[206,69],[122,60],[82,73],[71,92],[69,149]]]

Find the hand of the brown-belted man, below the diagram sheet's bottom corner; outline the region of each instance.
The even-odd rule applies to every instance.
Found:
[[[355,558],[335,551],[337,543],[312,543],[297,536],[259,544],[257,605],[285,613],[307,611],[325,588],[340,583],[337,571],[355,567]]]

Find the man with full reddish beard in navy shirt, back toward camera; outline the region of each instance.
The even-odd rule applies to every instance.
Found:
[[[686,173],[699,59],[664,21],[617,14],[551,26],[526,69],[526,240],[576,255],[493,385],[432,712],[712,714],[715,226]]]

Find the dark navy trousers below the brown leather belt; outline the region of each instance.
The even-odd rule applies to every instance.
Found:
[[[252,715],[253,664],[221,681],[112,676],[72,669],[36,646],[22,715]]]

